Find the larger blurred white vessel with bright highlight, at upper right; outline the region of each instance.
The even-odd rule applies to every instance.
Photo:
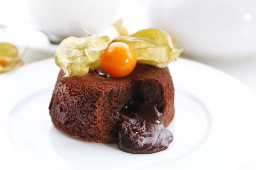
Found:
[[[167,31],[185,54],[256,56],[256,0],[144,0],[151,27]]]

